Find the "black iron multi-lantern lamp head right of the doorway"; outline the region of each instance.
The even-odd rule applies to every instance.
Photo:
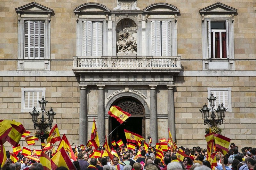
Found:
[[[216,117],[213,108],[215,107],[215,101],[217,97],[214,97],[213,94],[211,93],[211,96],[207,99],[209,100],[211,108],[208,108],[205,103],[203,108],[199,109],[204,119],[204,125],[209,124],[211,126],[217,126],[218,124],[223,124],[223,119],[225,118],[225,113],[228,108],[224,107],[223,103],[219,105],[217,109],[214,109],[217,113]],[[211,109],[212,114],[209,115]]]

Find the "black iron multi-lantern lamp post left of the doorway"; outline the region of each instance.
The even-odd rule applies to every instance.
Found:
[[[50,129],[52,129],[52,122],[53,122],[53,118],[54,115],[56,115],[56,112],[54,112],[52,110],[52,107],[50,108],[50,110],[47,112],[45,112],[45,106],[47,104],[48,101],[44,100],[44,96],[42,97],[42,100],[38,100],[38,103],[40,104],[40,109],[42,111],[42,117],[40,119],[40,122],[38,122],[38,116],[40,115],[39,111],[36,111],[36,108],[33,108],[32,112],[29,112],[29,114],[32,116],[32,122],[34,123],[34,129],[36,129],[36,127],[38,127],[37,133],[40,133],[41,135],[38,136],[38,138],[41,140],[41,142],[44,142],[45,136],[44,136],[44,132],[46,131],[46,129],[49,127]],[[47,115],[48,120],[44,118],[44,112],[45,115]]]

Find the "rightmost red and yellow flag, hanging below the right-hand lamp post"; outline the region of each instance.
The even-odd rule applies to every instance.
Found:
[[[230,144],[230,140],[228,137],[224,137],[220,134],[214,134],[214,143],[216,146],[217,151],[226,155],[228,153],[228,146]]]

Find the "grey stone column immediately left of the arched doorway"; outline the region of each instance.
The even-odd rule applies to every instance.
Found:
[[[98,121],[96,123],[99,140],[102,142],[105,139],[105,85],[97,85],[98,87]],[[100,144],[100,145],[103,145]]]

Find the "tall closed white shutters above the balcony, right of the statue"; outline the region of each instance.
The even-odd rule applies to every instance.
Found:
[[[170,21],[151,21],[151,55],[171,56]]]

